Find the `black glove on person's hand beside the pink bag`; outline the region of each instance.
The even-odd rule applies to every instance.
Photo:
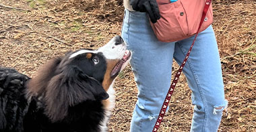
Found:
[[[156,0],[130,0],[130,5],[135,11],[148,13],[152,23],[156,23],[160,19],[160,12]]]

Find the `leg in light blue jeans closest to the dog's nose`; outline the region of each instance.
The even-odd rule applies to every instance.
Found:
[[[127,10],[122,38],[133,52],[131,66],[138,88],[131,132],[152,131],[170,86],[174,43],[156,39],[146,13]]]

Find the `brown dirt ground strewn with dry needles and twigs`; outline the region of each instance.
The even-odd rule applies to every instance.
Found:
[[[122,0],[0,0],[0,65],[28,76],[55,56],[96,49],[121,34]],[[228,113],[219,131],[256,131],[256,1],[216,0],[213,27]],[[174,72],[178,65],[174,64]],[[173,73],[174,73],[173,72]],[[137,100],[131,67],[117,78],[110,131],[129,131]],[[182,75],[160,131],[189,131],[193,106]]]

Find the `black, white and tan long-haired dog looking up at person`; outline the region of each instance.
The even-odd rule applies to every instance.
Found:
[[[131,59],[120,36],[46,62],[34,78],[0,68],[0,131],[108,131],[113,83]]]

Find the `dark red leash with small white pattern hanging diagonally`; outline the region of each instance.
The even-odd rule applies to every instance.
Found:
[[[187,52],[186,58],[183,60],[183,63],[182,63],[181,66],[179,67],[179,70],[178,70],[178,72],[176,73],[176,75],[175,75],[175,77],[174,77],[174,80],[172,80],[172,84],[170,84],[170,88],[169,88],[169,90],[168,90],[168,93],[166,94],[166,97],[165,97],[165,99],[164,99],[164,103],[163,103],[163,105],[162,105],[162,108],[161,108],[160,113],[159,113],[159,115],[158,115],[158,119],[156,120],[156,124],[154,125],[154,128],[153,128],[153,131],[152,131],[152,132],[158,131],[158,128],[160,127],[160,124],[162,123],[162,119],[164,118],[164,113],[166,112],[166,109],[167,109],[167,106],[168,106],[168,104],[169,104],[169,102],[170,102],[170,98],[171,98],[171,96],[172,96],[172,93],[173,93],[173,91],[174,91],[174,88],[175,88],[175,86],[176,86],[176,84],[177,84],[177,82],[178,82],[178,80],[179,80],[179,77],[180,77],[180,75],[181,75],[181,72],[182,72],[182,70],[183,70],[183,67],[185,66],[185,64],[186,64],[186,62],[187,62],[187,59],[189,58],[189,54],[190,54],[190,52],[191,52],[191,50],[192,50],[192,48],[193,48],[193,46],[194,46],[194,44],[195,44],[195,39],[197,38],[197,36],[198,36],[198,34],[199,34],[199,29],[201,28],[201,25],[202,25],[202,23],[203,23],[203,20],[205,19],[206,13],[207,13],[207,11],[208,11],[208,9],[209,9],[211,3],[212,3],[212,0],[206,0],[205,6],[204,6],[204,8],[203,8],[203,15],[202,15],[202,17],[201,17],[201,21],[200,21],[199,27],[198,27],[198,29],[197,29],[197,34],[195,35],[195,38],[194,38],[194,40],[193,40],[193,43],[192,43],[191,47],[189,48],[189,52]]]

